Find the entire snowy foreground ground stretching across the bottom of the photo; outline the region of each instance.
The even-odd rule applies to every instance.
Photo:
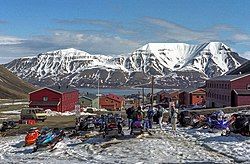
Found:
[[[220,136],[206,129],[179,128],[174,135],[170,127],[143,134],[106,140],[101,136],[80,139],[65,138],[56,149],[32,153],[33,147],[22,147],[24,135],[0,140],[3,163],[235,163],[250,161],[250,139],[232,135]]]

